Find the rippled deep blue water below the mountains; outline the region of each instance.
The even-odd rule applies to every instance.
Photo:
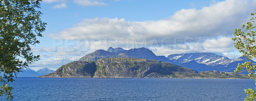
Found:
[[[95,79],[18,77],[14,100],[244,100],[252,79]],[[0,100],[6,100],[0,97]]]

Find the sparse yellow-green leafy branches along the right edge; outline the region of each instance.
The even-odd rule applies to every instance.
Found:
[[[241,29],[237,28],[234,32],[234,38],[232,40],[235,41],[234,46],[243,54],[244,57],[249,60],[256,58],[256,33],[255,33],[255,21],[256,21],[256,12],[251,13],[251,19],[246,24],[243,24]],[[256,83],[256,65],[254,65],[251,61],[247,61],[243,64],[238,64],[236,72],[248,72],[248,76],[251,79],[255,79]],[[255,100],[256,91],[253,89],[244,89],[247,98],[245,100]]]

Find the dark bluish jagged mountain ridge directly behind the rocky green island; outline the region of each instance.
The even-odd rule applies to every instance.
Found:
[[[87,54],[79,59],[79,61],[95,61],[101,58],[140,58],[154,59],[157,61],[170,62],[165,56],[156,56],[152,50],[146,48],[135,48],[125,50],[122,48],[109,47],[108,50],[96,50],[91,54]]]

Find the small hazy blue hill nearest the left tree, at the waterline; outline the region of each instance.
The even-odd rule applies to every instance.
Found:
[[[21,69],[22,72],[19,72],[17,77],[38,77],[40,74],[32,70],[31,68]]]

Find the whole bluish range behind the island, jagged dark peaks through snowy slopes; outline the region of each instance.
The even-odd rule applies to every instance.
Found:
[[[140,58],[153,59],[173,63],[175,65],[191,68],[198,72],[218,70],[220,72],[234,72],[238,63],[249,61],[246,58],[228,59],[225,56],[219,56],[214,53],[186,53],[171,54],[167,58],[165,56],[156,56],[152,50],[146,48],[129,49],[109,47],[108,50],[96,50],[91,54],[87,54],[79,59],[79,61],[95,61],[101,58]],[[255,63],[255,61],[252,61]]]

